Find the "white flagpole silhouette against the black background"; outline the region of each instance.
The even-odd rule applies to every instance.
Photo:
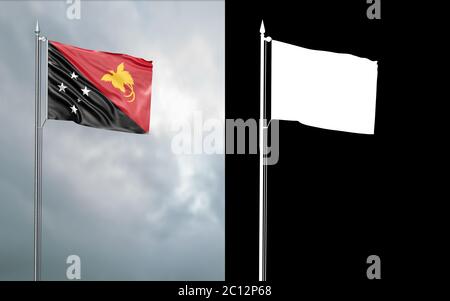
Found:
[[[270,37],[265,38],[264,21],[261,21],[260,37],[260,113],[259,113],[259,281],[266,281],[267,265],[267,199],[266,181],[267,169],[265,154],[265,136],[267,132],[266,120],[266,49],[265,42],[270,42]]]

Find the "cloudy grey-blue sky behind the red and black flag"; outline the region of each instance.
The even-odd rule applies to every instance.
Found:
[[[43,270],[64,280],[222,280],[224,156],[176,155],[174,125],[224,119],[224,3],[0,1],[0,280],[32,280],[34,26],[49,39],[154,61],[151,132],[48,121]]]

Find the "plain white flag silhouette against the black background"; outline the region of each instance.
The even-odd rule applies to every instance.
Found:
[[[272,119],[374,133],[376,61],[272,43]]]

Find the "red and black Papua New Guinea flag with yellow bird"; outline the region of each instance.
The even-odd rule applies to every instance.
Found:
[[[153,63],[48,42],[48,118],[147,133]]]

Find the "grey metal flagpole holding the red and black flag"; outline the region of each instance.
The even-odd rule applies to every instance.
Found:
[[[41,37],[39,22],[35,33],[35,125],[34,125],[34,281],[41,278],[42,229],[42,124],[41,124]]]

